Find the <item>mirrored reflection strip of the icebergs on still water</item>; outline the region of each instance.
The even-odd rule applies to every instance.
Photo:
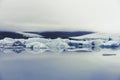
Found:
[[[65,52],[94,52],[100,51],[100,48],[97,47],[88,47],[88,48],[76,48],[76,49],[47,49],[47,48],[25,48],[25,47],[11,47],[11,48],[0,48],[0,52],[7,53],[7,52],[14,52],[14,53],[23,53],[24,51],[29,52],[37,52],[37,53],[46,53],[46,52],[53,52],[53,53],[65,53]]]

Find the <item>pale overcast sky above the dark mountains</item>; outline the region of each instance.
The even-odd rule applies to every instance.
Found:
[[[0,29],[120,33],[119,0],[1,0]]]

